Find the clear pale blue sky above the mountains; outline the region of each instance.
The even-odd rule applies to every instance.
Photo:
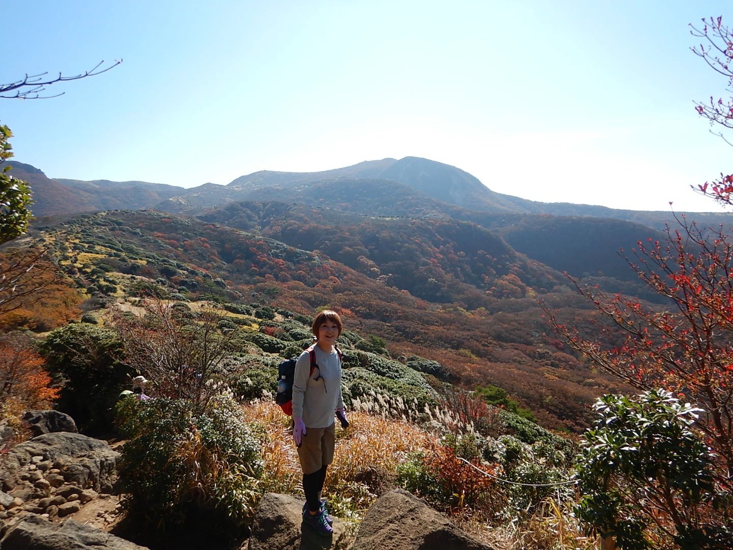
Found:
[[[191,187],[414,155],[526,199],[715,210],[690,185],[732,172],[693,110],[726,81],[688,49],[729,2],[0,4],[0,82],[124,59],[0,100],[15,158],[49,177]]]

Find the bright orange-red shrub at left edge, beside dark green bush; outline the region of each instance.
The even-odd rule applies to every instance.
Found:
[[[0,336],[0,417],[17,417],[22,411],[49,408],[59,397],[51,387],[45,361],[20,333]]]

